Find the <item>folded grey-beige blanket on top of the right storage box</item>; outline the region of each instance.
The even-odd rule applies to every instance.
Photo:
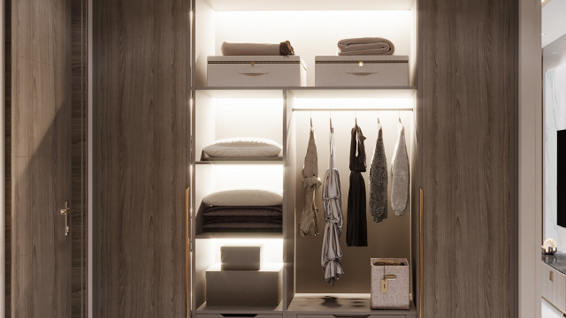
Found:
[[[340,56],[351,55],[393,55],[393,42],[379,37],[343,39],[338,42]]]

